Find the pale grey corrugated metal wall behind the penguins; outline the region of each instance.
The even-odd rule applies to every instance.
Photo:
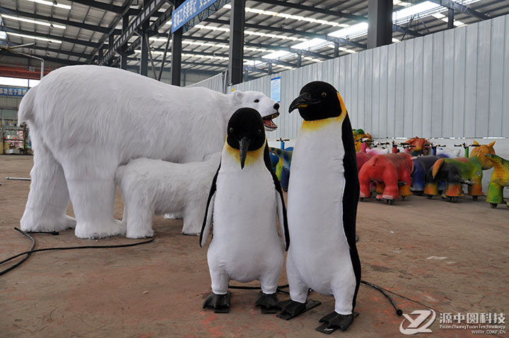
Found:
[[[270,95],[281,76],[279,129],[295,138],[302,120],[288,105],[305,83],[337,88],[353,128],[374,137],[509,136],[509,16],[368,49],[240,83]]]

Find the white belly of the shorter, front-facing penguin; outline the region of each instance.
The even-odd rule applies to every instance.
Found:
[[[213,239],[208,252],[211,276],[223,274],[225,279],[242,283],[258,279],[262,288],[264,279],[274,279],[277,284],[283,247],[276,228],[274,181],[263,161],[240,170],[237,161],[229,163],[225,157],[213,206]],[[275,287],[266,293],[275,292]]]

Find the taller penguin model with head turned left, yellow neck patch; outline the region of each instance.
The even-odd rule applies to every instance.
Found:
[[[356,151],[343,100],[329,83],[310,82],[289,111],[304,121],[293,148],[288,185],[288,229],[292,245],[286,258],[291,299],[279,317],[306,310],[308,289],[334,295],[334,312],[317,330],[346,330],[353,308],[361,262],[356,248],[359,197]]]

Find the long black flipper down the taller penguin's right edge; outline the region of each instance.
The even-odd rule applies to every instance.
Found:
[[[361,261],[359,260],[357,246],[356,246],[356,216],[357,204],[359,199],[359,181],[357,173],[357,156],[355,151],[355,142],[353,141],[353,134],[351,132],[351,123],[349,115],[347,114],[343,125],[341,127],[341,139],[344,146],[344,177],[345,187],[343,194],[343,210],[349,211],[343,213],[343,228],[346,235],[346,240],[350,247],[350,259],[353,267],[353,272],[356,276],[356,289],[353,294],[352,311],[356,305],[357,292],[359,284],[361,283]]]

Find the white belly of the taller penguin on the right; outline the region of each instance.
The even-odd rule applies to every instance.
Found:
[[[343,213],[351,212],[343,210],[343,158],[341,123],[300,130],[288,186],[287,267],[288,279],[300,279],[318,293],[336,296],[338,288],[352,289],[345,291],[351,307],[356,279],[343,227]]]

